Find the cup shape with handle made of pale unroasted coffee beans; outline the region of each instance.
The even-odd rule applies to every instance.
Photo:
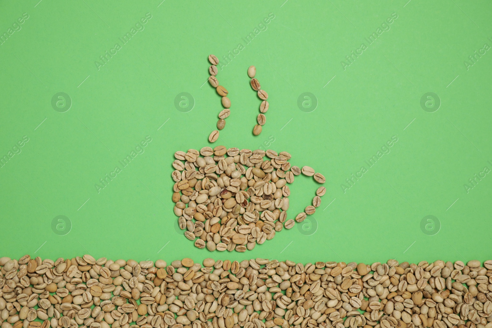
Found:
[[[245,252],[273,239],[284,226],[292,228],[294,219],[287,219],[288,184],[300,174],[325,182],[308,166],[291,167],[286,151],[217,146],[177,151],[174,156],[174,213],[184,236],[210,251]],[[325,192],[318,188],[312,205],[295,220],[302,222],[313,214]]]

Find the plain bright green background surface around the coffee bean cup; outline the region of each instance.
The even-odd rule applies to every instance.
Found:
[[[29,19],[0,45],[0,156],[24,136],[29,142],[0,168],[0,256],[490,259],[491,174],[471,190],[464,184],[492,169],[491,50],[472,66],[464,61],[492,45],[492,3],[284,1],[2,1],[1,34],[24,13]],[[119,38],[147,13],[144,30],[123,45]],[[275,18],[259,26],[269,14]],[[121,49],[98,69],[95,61],[116,43]],[[344,67],[362,43],[367,49]],[[296,225],[246,253],[211,253],[176,231],[173,154],[208,146],[222,109],[205,83],[209,54],[226,63],[217,79],[232,102],[214,146],[258,149],[275,139],[268,148],[327,177],[304,233]],[[258,137],[252,64],[270,95]],[[58,92],[72,101],[64,113],[51,105]],[[194,99],[186,113],[174,105],[181,92]],[[315,96],[314,111],[298,107],[303,92]],[[432,113],[420,105],[427,92],[441,102]],[[98,193],[99,179],[146,136],[145,152]],[[368,168],[364,161],[393,136],[391,151]],[[344,190],[361,166],[368,172]],[[288,218],[317,187],[296,177]],[[58,215],[68,218],[65,229],[71,224],[64,236],[51,228]],[[421,230],[427,215],[438,220],[428,226],[432,236]]]

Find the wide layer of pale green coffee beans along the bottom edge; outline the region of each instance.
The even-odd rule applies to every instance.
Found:
[[[0,258],[1,328],[492,328],[492,261]]]

